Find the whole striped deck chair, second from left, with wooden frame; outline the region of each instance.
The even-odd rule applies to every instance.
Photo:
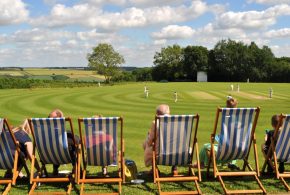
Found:
[[[72,133],[72,141],[75,147],[76,141],[74,139],[73,126],[70,118],[31,118],[28,119],[31,132],[34,140],[34,150],[31,163],[30,183],[32,187],[29,194],[34,192],[37,184],[46,182],[68,182],[67,193],[70,194],[74,184],[74,177],[76,168],[73,167],[72,174],[68,175],[49,175],[46,171],[46,165],[63,165],[71,164],[72,157],[69,152],[69,144],[67,139],[66,124]],[[35,151],[38,152],[39,161],[41,162],[41,169],[37,170],[38,174],[34,174],[34,164],[37,161]],[[45,176],[44,176],[45,175]]]

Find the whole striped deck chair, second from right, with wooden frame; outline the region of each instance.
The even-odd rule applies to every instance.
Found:
[[[221,113],[221,118],[220,118]],[[258,155],[256,147],[255,129],[260,113],[260,108],[218,108],[214,124],[214,130],[211,134],[211,153],[207,172],[209,173],[210,163],[213,162],[214,177],[218,177],[225,194],[239,193],[266,193],[261,184],[259,176]],[[220,119],[219,119],[220,118]],[[215,154],[214,142],[220,121],[220,134],[218,149]],[[251,146],[253,145],[255,168],[254,170],[249,162],[248,157]],[[241,171],[218,170],[216,160],[232,161],[243,160],[243,169]],[[246,171],[248,168],[248,171]],[[254,190],[229,190],[226,188],[222,177],[254,176],[259,189]]]

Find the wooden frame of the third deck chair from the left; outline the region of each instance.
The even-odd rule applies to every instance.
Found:
[[[85,120],[91,121],[91,120],[115,120],[116,122],[116,141],[120,139],[120,143],[116,143],[116,161],[118,166],[118,176],[117,177],[97,177],[97,176],[90,176],[87,177],[87,167],[88,166],[101,166],[101,165],[92,165],[89,164],[88,156],[86,155],[86,139],[84,137],[87,136],[86,133],[83,133],[82,127],[85,127]],[[79,134],[82,137],[81,139],[81,149],[78,152],[78,163],[77,163],[77,183],[81,184],[81,190],[80,194],[83,194],[84,192],[84,184],[86,183],[118,183],[118,193],[107,193],[107,194],[121,194],[122,192],[122,182],[125,182],[125,174],[124,174],[124,139],[123,139],[123,118],[122,117],[98,117],[98,118],[79,118],[78,119],[79,124]],[[93,127],[92,127],[93,128]],[[92,130],[93,131],[93,130]],[[119,138],[118,138],[118,131],[119,132]],[[101,149],[100,149],[101,151]],[[97,156],[97,154],[96,154]],[[82,162],[81,162],[82,159]],[[81,163],[83,164],[83,170],[81,170]],[[106,194],[106,193],[102,193]]]

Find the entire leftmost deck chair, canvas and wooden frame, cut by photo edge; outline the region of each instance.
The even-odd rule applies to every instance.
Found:
[[[8,136],[11,136],[12,143],[15,145],[15,154],[12,154],[10,149]],[[15,185],[16,183],[16,179],[20,171],[17,168],[18,160],[22,160],[24,166],[26,167],[25,159],[20,155],[18,142],[16,142],[7,119],[0,118],[0,169],[12,170],[12,178],[3,178],[0,180],[0,184],[6,184],[2,194],[8,194],[9,190],[11,189],[11,185]],[[26,167],[26,171],[27,170],[28,169]]]

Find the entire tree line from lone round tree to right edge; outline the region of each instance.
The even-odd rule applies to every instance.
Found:
[[[289,57],[277,58],[268,46],[259,48],[255,42],[231,39],[219,41],[211,50],[203,46],[167,46],[155,53],[153,67],[133,71],[118,69],[125,60],[109,44],[94,48],[88,61],[89,68],[107,73],[107,81],[196,81],[197,72],[204,71],[212,82],[290,82]]]

